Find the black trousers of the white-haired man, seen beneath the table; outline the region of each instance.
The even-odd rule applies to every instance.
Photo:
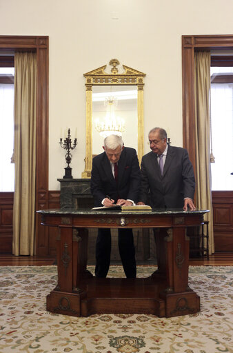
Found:
[[[132,229],[118,230],[118,246],[121,262],[127,278],[136,277],[134,236]],[[108,274],[111,256],[111,231],[100,228],[97,236],[95,275],[105,277]]]

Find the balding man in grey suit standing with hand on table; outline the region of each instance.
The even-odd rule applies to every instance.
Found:
[[[141,161],[138,204],[148,203],[149,195],[153,208],[195,210],[195,179],[187,150],[168,145],[167,133],[162,128],[153,128],[148,137],[152,152]]]

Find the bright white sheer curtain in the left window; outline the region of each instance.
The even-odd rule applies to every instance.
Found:
[[[14,85],[0,83],[0,192],[14,191]]]

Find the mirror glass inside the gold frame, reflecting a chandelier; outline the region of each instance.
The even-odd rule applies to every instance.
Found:
[[[138,113],[136,86],[92,87],[92,154],[103,152],[108,134],[121,135],[126,146],[137,150]]]

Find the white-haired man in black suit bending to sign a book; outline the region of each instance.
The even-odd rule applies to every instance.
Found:
[[[132,205],[138,201],[140,187],[139,160],[134,148],[124,147],[121,137],[110,135],[104,140],[105,152],[94,157],[90,188],[96,206]],[[136,277],[132,229],[119,229],[119,253],[128,278]],[[110,266],[110,229],[99,229],[96,247],[97,277],[105,277]]]

